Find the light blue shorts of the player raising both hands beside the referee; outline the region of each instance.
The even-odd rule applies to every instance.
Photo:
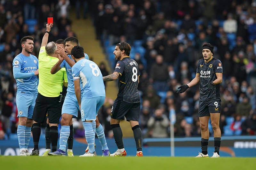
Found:
[[[76,99],[76,94],[67,93],[61,109],[61,115],[63,113],[67,113],[69,115],[73,115],[77,117],[78,110],[79,110],[79,106]]]

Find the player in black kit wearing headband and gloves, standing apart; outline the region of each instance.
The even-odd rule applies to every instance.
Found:
[[[187,85],[178,87],[178,93],[185,92],[189,87],[200,82],[199,86],[199,120],[201,128],[201,148],[202,152],[196,158],[209,157],[207,153],[209,129],[208,122],[211,117],[214,134],[214,152],[212,158],[220,157],[220,83],[222,82],[222,63],[214,58],[213,46],[210,43],[202,47],[204,59],[197,63],[196,77]]]

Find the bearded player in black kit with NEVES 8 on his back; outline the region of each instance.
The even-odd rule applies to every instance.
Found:
[[[131,46],[127,42],[116,44],[114,55],[119,60],[113,74],[103,77],[104,81],[113,81],[118,78],[118,94],[111,110],[110,125],[113,129],[117,151],[110,156],[126,156],[124,150],[123,133],[120,128],[120,121],[130,122],[137,147],[136,156],[142,154],[142,134],[139,126],[140,117],[140,95],[138,91],[139,68],[138,63],[130,58]]]

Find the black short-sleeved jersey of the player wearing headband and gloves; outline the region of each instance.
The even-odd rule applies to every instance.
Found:
[[[199,100],[220,99],[220,84],[213,85],[211,89],[208,84],[217,79],[216,73],[223,73],[222,63],[216,58],[205,63],[204,59],[200,59],[197,63],[196,73],[200,76]]]

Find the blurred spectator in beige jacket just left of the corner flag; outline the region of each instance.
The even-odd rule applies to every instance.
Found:
[[[169,120],[161,109],[156,109],[154,116],[148,120],[148,129],[151,137],[167,137]]]

